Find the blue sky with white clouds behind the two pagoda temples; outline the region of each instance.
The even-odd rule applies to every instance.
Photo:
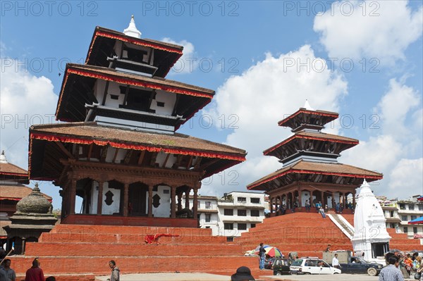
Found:
[[[375,194],[423,194],[422,1],[2,1],[0,146],[9,162],[27,168],[28,128],[51,120],[59,73],[84,61],[94,27],[123,31],[130,15],[142,37],[185,46],[168,79],[216,90],[180,132],[248,152],[200,194],[246,190],[281,168],[262,151],[290,135],[277,122],[305,99],[340,113],[326,132],[360,140],[339,161],[384,173]],[[58,187],[40,187],[59,208]]]

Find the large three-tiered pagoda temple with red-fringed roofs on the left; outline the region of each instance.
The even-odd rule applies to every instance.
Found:
[[[245,161],[176,132],[214,96],[164,78],[182,51],[141,38],[132,18],[123,33],[96,27],[85,64],[66,65],[56,108],[66,123],[32,126],[29,148],[30,179],[61,187],[61,223],[197,227],[201,180]]]

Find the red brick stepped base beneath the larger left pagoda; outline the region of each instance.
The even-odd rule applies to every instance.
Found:
[[[160,244],[145,244],[145,235],[160,233],[180,236],[161,237]],[[55,275],[59,281],[88,281],[108,275],[111,259],[123,274],[178,271],[231,275],[239,266],[248,266],[259,276],[257,258],[243,254],[242,245],[214,237],[209,229],[56,225],[39,242],[27,243],[25,256],[11,259],[18,280],[35,257],[39,257],[44,275]]]

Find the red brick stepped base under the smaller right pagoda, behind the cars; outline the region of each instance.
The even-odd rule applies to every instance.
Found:
[[[343,217],[354,225],[354,215]],[[396,234],[395,230],[388,229],[392,239],[391,249],[410,251],[423,250],[418,239],[407,239],[404,234]],[[322,256],[322,251],[331,244],[331,251],[352,250],[350,239],[329,219],[322,218],[319,213],[288,213],[264,219],[257,227],[243,233],[236,242],[243,246],[243,250],[254,249],[260,242],[276,246],[283,254],[297,251],[298,256]]]

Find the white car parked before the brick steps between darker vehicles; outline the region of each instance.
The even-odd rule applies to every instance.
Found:
[[[329,266],[319,258],[297,258],[290,265],[292,274],[340,274],[341,270]]]

